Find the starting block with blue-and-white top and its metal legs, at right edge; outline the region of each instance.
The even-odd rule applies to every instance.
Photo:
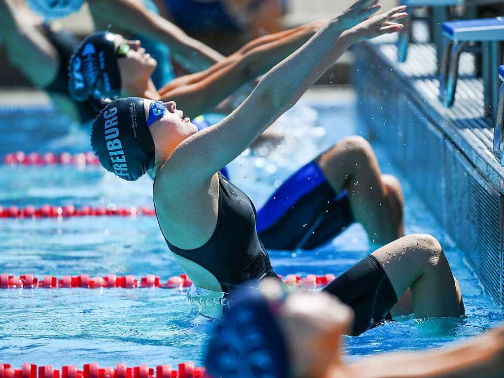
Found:
[[[481,42],[485,114],[495,115],[498,92],[498,66],[502,64],[504,18],[449,21],[443,24],[446,43],[439,77],[439,99],[453,105],[457,89],[460,54],[475,42]]]

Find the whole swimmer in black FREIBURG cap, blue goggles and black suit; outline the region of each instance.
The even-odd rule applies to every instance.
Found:
[[[280,282],[258,237],[254,204],[218,171],[295,104],[352,43],[401,30],[395,21],[407,16],[406,7],[373,16],[380,8],[377,0],[355,2],[270,70],[235,111],[201,132],[174,101],[120,98],[97,116],[91,146],[105,169],[125,180],[154,172],[159,227],[195,285],[232,294],[249,281],[271,277]],[[324,157],[319,163],[324,172]],[[353,335],[411,308],[418,318],[464,313],[448,260],[430,235],[404,236],[377,249],[324,290],[354,309],[356,321],[348,330]]]

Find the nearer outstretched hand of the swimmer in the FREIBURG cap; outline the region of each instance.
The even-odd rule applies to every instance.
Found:
[[[388,12],[370,17],[345,32],[345,34],[348,34],[354,42],[357,42],[364,39],[375,38],[384,34],[398,32],[403,28],[403,25],[394,21],[408,17],[408,14],[405,12],[406,8],[407,6],[403,5],[392,8]]]

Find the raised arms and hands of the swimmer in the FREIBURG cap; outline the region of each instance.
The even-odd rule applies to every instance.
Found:
[[[368,19],[381,8],[376,3],[377,0],[359,0],[342,16],[328,22],[299,50],[271,70],[234,112],[185,139],[166,161],[165,168],[169,166],[169,169],[158,173],[158,181],[164,172],[169,172],[167,181],[177,177],[176,182],[186,185],[210,178],[291,107],[355,40],[399,31],[402,26],[391,20],[405,17],[406,7],[397,7]],[[346,29],[362,20],[366,21],[339,38]]]

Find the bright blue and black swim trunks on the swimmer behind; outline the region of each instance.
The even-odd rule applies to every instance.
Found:
[[[290,176],[257,214],[267,249],[314,249],[354,222],[348,194],[337,195],[315,161]]]

